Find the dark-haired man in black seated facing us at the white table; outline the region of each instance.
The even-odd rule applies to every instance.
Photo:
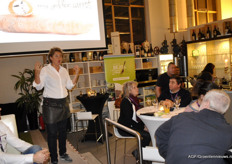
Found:
[[[176,97],[181,98],[180,107],[186,107],[191,102],[191,94],[189,91],[181,87],[181,78],[179,76],[173,76],[169,80],[169,88],[164,90],[158,98],[161,104],[165,104],[169,107],[174,106]]]

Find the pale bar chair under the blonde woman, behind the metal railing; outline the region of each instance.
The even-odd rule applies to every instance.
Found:
[[[131,156],[129,154],[126,153],[126,139],[134,139],[134,136],[122,136],[121,134],[119,134],[118,129],[113,126],[114,129],[114,135],[115,135],[115,152],[114,152],[114,164],[116,163],[116,152],[117,152],[117,141],[118,139],[124,139],[124,158],[123,158],[123,163],[125,164],[125,160],[126,160],[126,156]]]

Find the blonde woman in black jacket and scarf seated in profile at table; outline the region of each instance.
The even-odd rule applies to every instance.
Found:
[[[123,100],[120,104],[120,116],[118,123],[140,133],[142,137],[141,146],[148,146],[151,138],[143,122],[137,117],[136,111],[141,108],[137,98],[139,89],[137,82],[129,81],[123,85]],[[130,136],[129,133],[118,129],[122,136]],[[134,153],[132,153],[134,155]]]

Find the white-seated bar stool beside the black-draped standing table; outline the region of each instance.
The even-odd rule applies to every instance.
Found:
[[[97,144],[97,142],[100,139],[102,139],[102,143],[103,143],[103,133],[102,133],[102,127],[100,126],[100,136],[98,137],[97,126],[96,126],[96,118],[98,118],[99,125],[101,125],[100,124],[100,117],[99,117],[98,114],[92,114],[92,112],[77,112],[76,113],[76,127],[77,127],[77,131],[78,131],[78,122],[79,121],[82,122],[82,128],[83,128],[83,130],[85,129],[83,121],[93,121],[94,122],[96,144]],[[85,135],[88,135],[88,134],[86,133]],[[98,146],[98,144],[97,144],[97,146]],[[77,149],[78,149],[78,139],[77,139]]]

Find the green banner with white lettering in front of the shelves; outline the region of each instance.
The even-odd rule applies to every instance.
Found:
[[[123,84],[136,79],[134,55],[105,55],[104,66],[107,83]]]

